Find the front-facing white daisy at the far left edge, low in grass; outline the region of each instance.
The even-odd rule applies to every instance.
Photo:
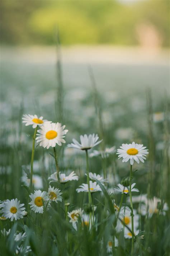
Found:
[[[0,212],[3,213],[3,217],[5,217],[6,219],[11,219],[11,221],[13,221],[13,219],[15,220],[19,220],[23,218],[23,211],[25,210],[24,203],[20,204],[20,201],[18,201],[18,199],[12,199],[11,201],[9,199],[6,200],[6,202],[4,202],[1,207],[2,209],[0,210]]]

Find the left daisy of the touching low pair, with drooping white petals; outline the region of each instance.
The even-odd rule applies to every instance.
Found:
[[[49,201],[47,192],[46,191],[41,192],[41,190],[35,190],[34,194],[31,193],[29,197],[32,199],[32,201],[29,203],[29,205],[31,205],[30,206],[31,210],[34,212],[43,213],[44,211],[43,202],[44,202],[44,205],[46,205],[47,202]]]

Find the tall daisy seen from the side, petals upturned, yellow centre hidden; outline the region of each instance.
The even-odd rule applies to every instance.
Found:
[[[84,135],[80,135],[80,143],[77,142],[76,139],[72,139],[73,143],[68,144],[67,147],[68,148],[76,148],[76,149],[81,149],[81,150],[88,150],[90,148],[95,147],[96,145],[98,145],[100,142],[102,142],[102,140],[99,140],[98,135],[96,134],[84,134]]]

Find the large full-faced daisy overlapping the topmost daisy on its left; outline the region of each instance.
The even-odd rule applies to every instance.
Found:
[[[47,149],[49,147],[55,147],[56,144],[61,146],[61,143],[66,143],[63,138],[68,130],[64,130],[65,125],[61,126],[61,123],[44,123],[41,129],[38,130],[37,143],[40,146]]]

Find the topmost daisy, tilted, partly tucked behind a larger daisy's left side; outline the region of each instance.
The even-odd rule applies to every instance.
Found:
[[[36,114],[34,114],[34,116],[31,114],[24,114],[22,119],[24,120],[23,123],[25,123],[25,126],[32,125],[33,128],[36,128],[37,126],[42,126],[46,122],[51,122],[47,121],[46,119],[43,120],[43,116],[38,118]]]

